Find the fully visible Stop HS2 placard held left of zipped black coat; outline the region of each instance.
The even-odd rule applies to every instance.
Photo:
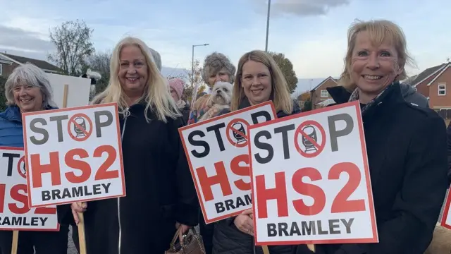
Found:
[[[30,207],[125,195],[116,103],[24,113]]]

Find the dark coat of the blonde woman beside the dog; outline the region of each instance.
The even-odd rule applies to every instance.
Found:
[[[249,107],[249,102],[244,100],[240,104],[240,109]],[[301,110],[294,104],[292,114],[297,114]],[[222,114],[227,111],[221,112]],[[277,117],[288,116],[283,111],[277,112]],[[233,223],[235,217],[223,219],[215,223],[213,235],[213,253],[214,254],[252,254],[254,248],[256,253],[263,253],[260,246],[254,246],[254,238],[248,234],[242,233]],[[290,254],[295,246],[268,246],[271,254]],[[300,247],[302,248],[302,247]],[[307,247],[305,247],[307,249]],[[308,250],[308,249],[307,249]]]

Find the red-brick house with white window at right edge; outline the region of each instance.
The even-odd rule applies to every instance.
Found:
[[[420,73],[411,85],[426,96],[429,107],[443,119],[451,119],[451,63],[442,63]]]

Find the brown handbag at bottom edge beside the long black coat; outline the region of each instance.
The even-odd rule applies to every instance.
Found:
[[[178,241],[181,233],[181,226],[175,232],[171,241],[171,248],[166,250],[165,254],[206,254],[202,236],[197,234],[196,229],[191,228],[187,234],[182,236],[182,242]]]

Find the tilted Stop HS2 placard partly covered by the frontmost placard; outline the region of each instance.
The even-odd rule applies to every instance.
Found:
[[[247,126],[275,117],[265,102],[179,129],[206,223],[252,207]]]

